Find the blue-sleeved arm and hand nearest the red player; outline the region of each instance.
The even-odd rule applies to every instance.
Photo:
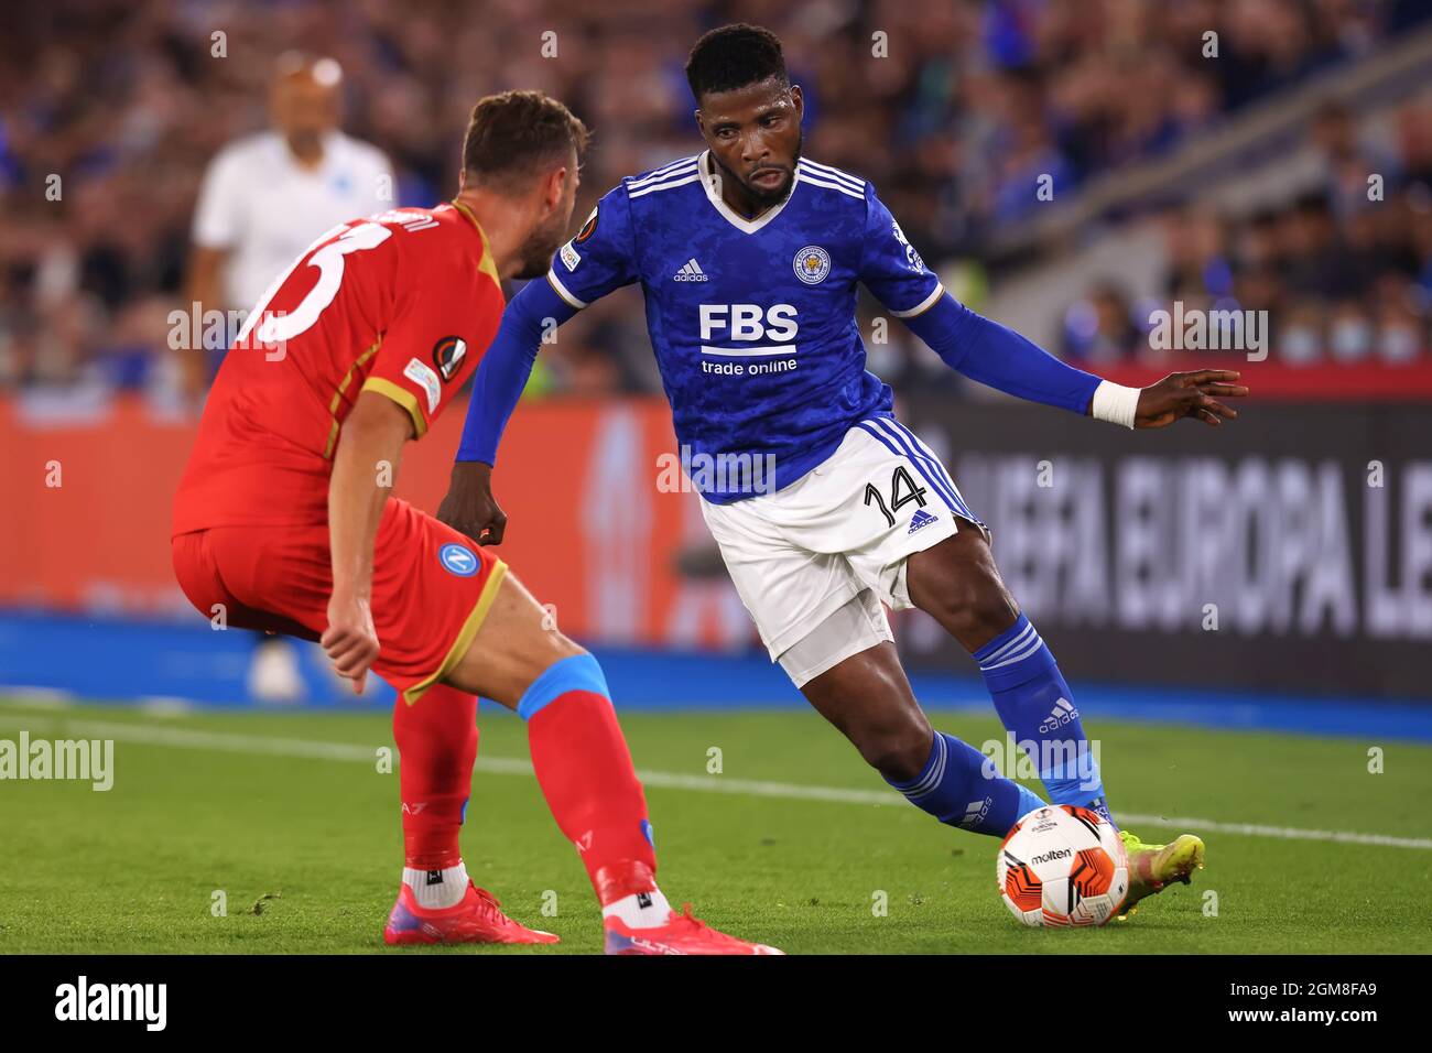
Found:
[[[497,337],[477,365],[463,441],[438,506],[438,520],[478,544],[501,544],[507,514],[493,497],[493,466],[507,418],[531,377],[543,331],[577,314],[546,279],[528,282],[503,312]]]

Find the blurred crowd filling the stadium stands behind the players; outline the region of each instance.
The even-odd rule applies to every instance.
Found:
[[[266,125],[286,49],[341,63],[344,129],[387,153],[401,205],[455,189],[473,100],[511,86],[561,97],[596,132],[584,215],[620,176],[699,148],[686,52],[716,21],[759,21],[782,34],[806,86],[808,153],[872,179],[934,262],[981,259],[992,232],[1037,208],[1041,173],[1077,191],[1167,156],[1419,17],[1418,4],[1360,0],[829,0],[798,19],[763,0],[660,14],[632,0],[93,0],[83,32],[36,32],[74,6],[3,16],[36,26],[0,33],[0,387],[176,400],[168,319],[183,307],[200,179],[225,143]],[[1204,57],[1213,24],[1216,60]],[[19,50],[42,37],[56,43]],[[1274,351],[1293,362],[1428,355],[1432,100],[1403,103],[1392,122],[1396,135],[1369,145],[1355,115],[1319,110],[1307,138],[1326,179],[1277,208],[1234,219],[1166,206],[1163,295],[1269,309]],[[1382,201],[1368,201],[1368,172],[1385,178]],[[1051,350],[1095,365],[1140,354],[1147,308],[1095,288],[1070,305]],[[613,297],[590,315],[563,330],[534,383],[656,390],[637,301]],[[895,365],[892,380],[908,378],[908,362]]]

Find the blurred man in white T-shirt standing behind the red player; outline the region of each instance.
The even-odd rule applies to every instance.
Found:
[[[252,309],[325,231],[394,206],[387,156],[338,128],[342,79],[334,59],[284,54],[269,93],[272,129],[229,143],[209,162],[186,279],[195,325],[185,388],[193,397],[211,374],[200,340],[206,312]]]

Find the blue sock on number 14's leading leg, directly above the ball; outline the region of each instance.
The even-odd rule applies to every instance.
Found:
[[[1034,762],[1050,799],[1091,808],[1113,822],[1074,692],[1030,619],[1020,615],[975,652],[975,660],[1000,719]]]

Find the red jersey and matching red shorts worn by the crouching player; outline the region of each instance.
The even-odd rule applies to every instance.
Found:
[[[249,317],[205,407],[173,520],[179,583],[195,605],[222,603],[238,628],[319,639],[344,420],[372,391],[422,437],[501,312],[493,255],[463,203],[385,212],[321,238]],[[372,567],[384,645],[372,668],[415,702],[471,640],[504,567],[398,499],[382,509]]]

